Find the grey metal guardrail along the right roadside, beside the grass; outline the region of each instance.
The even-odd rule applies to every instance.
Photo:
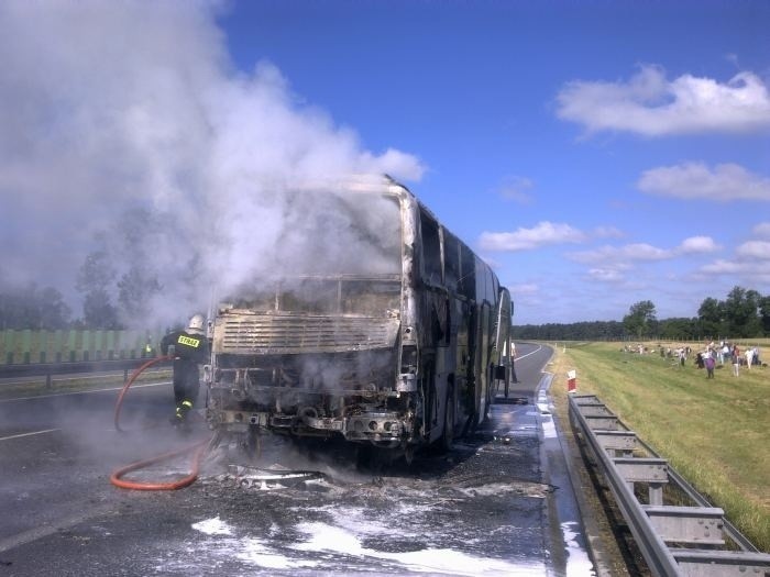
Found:
[[[760,553],[684,479],[593,395],[570,395],[570,421],[580,431],[613,492],[653,575],[724,577],[770,574]],[[645,450],[645,456],[638,456]],[[648,488],[647,502],[637,484]],[[663,487],[674,485],[694,507],[666,504]],[[740,551],[725,548],[725,536]]]

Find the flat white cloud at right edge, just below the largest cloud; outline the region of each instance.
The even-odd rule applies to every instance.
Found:
[[[637,188],[649,195],[686,200],[770,201],[770,179],[755,175],[736,164],[721,164],[713,169],[703,163],[652,168],[642,173]]]

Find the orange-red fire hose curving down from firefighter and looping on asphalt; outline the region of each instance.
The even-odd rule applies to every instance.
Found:
[[[131,385],[133,385],[134,380],[148,367],[161,363],[163,360],[168,360],[173,358],[172,356],[160,356],[157,358],[153,358],[144,363],[141,367],[139,367],[136,370],[133,371],[129,380],[125,381],[125,385],[123,386],[122,390],[120,391],[120,395],[118,396],[118,400],[116,402],[116,410],[114,410],[114,425],[116,430],[124,433],[125,431],[121,429],[120,426],[120,410],[123,406],[123,399],[125,397],[125,392],[129,390]],[[130,465],[127,465],[124,467],[121,467],[112,473],[110,475],[110,482],[114,485],[116,487],[120,487],[121,489],[133,489],[133,490],[139,490],[139,491],[169,491],[169,490],[176,490],[176,489],[182,489],[184,487],[187,487],[189,485],[193,485],[195,480],[198,478],[198,473],[200,470],[200,461],[204,456],[204,453],[206,452],[206,447],[209,444],[209,440],[201,441],[198,443],[195,443],[193,445],[189,445],[184,448],[179,448],[176,451],[170,451],[168,453],[164,453],[162,455],[157,455],[155,457],[151,457],[143,461],[138,461],[134,463],[131,463]],[[193,467],[190,470],[190,474],[187,475],[186,477],[172,481],[172,482],[145,482],[145,481],[134,481],[134,480],[125,480],[122,479],[123,475],[131,473],[133,470],[142,469],[145,468],[150,465],[154,465],[155,463],[160,463],[162,461],[169,459],[172,457],[175,457],[177,455],[183,455],[185,453],[188,453],[190,451],[195,451],[195,454],[193,456]]]

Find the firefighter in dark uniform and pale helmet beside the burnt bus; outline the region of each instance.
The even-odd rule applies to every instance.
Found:
[[[209,360],[209,340],[205,330],[206,321],[202,314],[194,314],[185,331],[168,333],[161,341],[161,353],[174,356],[174,402],[176,411],[172,417],[175,425],[185,424],[187,414],[198,398],[200,379],[198,365]]]

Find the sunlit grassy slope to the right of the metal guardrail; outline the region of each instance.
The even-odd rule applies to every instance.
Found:
[[[757,344],[767,363],[770,342]],[[758,548],[770,552],[770,366],[741,366],[734,377],[729,364],[719,368],[717,362],[715,378],[706,379],[692,357],[680,367],[659,354],[622,348],[558,345],[550,368],[561,422],[568,422],[566,371],[576,369],[579,393],[596,395]]]

